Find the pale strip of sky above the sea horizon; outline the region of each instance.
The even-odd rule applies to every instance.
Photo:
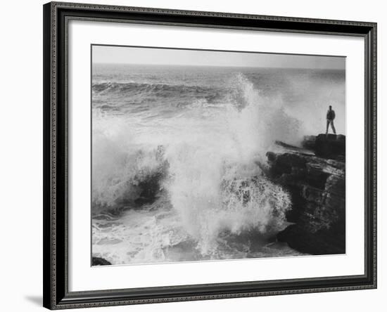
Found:
[[[345,69],[343,56],[92,46],[93,63]]]

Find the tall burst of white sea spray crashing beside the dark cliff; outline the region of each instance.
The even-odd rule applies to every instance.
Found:
[[[256,164],[276,138],[273,133],[278,134],[270,133],[265,123],[272,121],[278,108],[262,107],[262,98],[243,76],[236,82],[239,102],[233,100],[222,112],[205,116],[208,124],[217,125],[215,131],[189,129],[194,136],[188,142],[167,148],[170,181],[166,188],[202,254],[216,252],[217,238],[224,230],[241,233],[258,228],[265,233],[270,226],[279,230],[291,207],[286,192],[267,181]],[[241,192],[249,193],[247,201]]]

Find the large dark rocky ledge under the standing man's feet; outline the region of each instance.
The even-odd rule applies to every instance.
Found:
[[[267,152],[268,175],[291,194],[293,224],[277,239],[307,254],[345,253],[345,136],[309,136],[304,149],[279,145]]]

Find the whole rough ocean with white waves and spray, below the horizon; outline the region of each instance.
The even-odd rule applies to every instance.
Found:
[[[92,254],[111,264],[297,256],[274,141],[345,134],[345,71],[93,64]]]

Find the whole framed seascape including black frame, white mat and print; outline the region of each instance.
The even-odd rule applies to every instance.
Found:
[[[376,23],[51,2],[43,92],[46,308],[376,288]]]

